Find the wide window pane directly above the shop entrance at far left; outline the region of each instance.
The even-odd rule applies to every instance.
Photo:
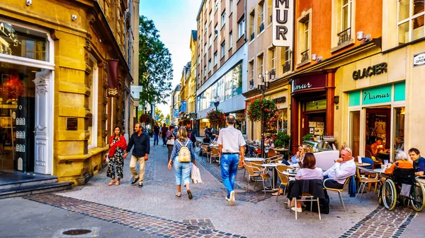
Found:
[[[0,22],[0,54],[49,61],[45,33]]]

